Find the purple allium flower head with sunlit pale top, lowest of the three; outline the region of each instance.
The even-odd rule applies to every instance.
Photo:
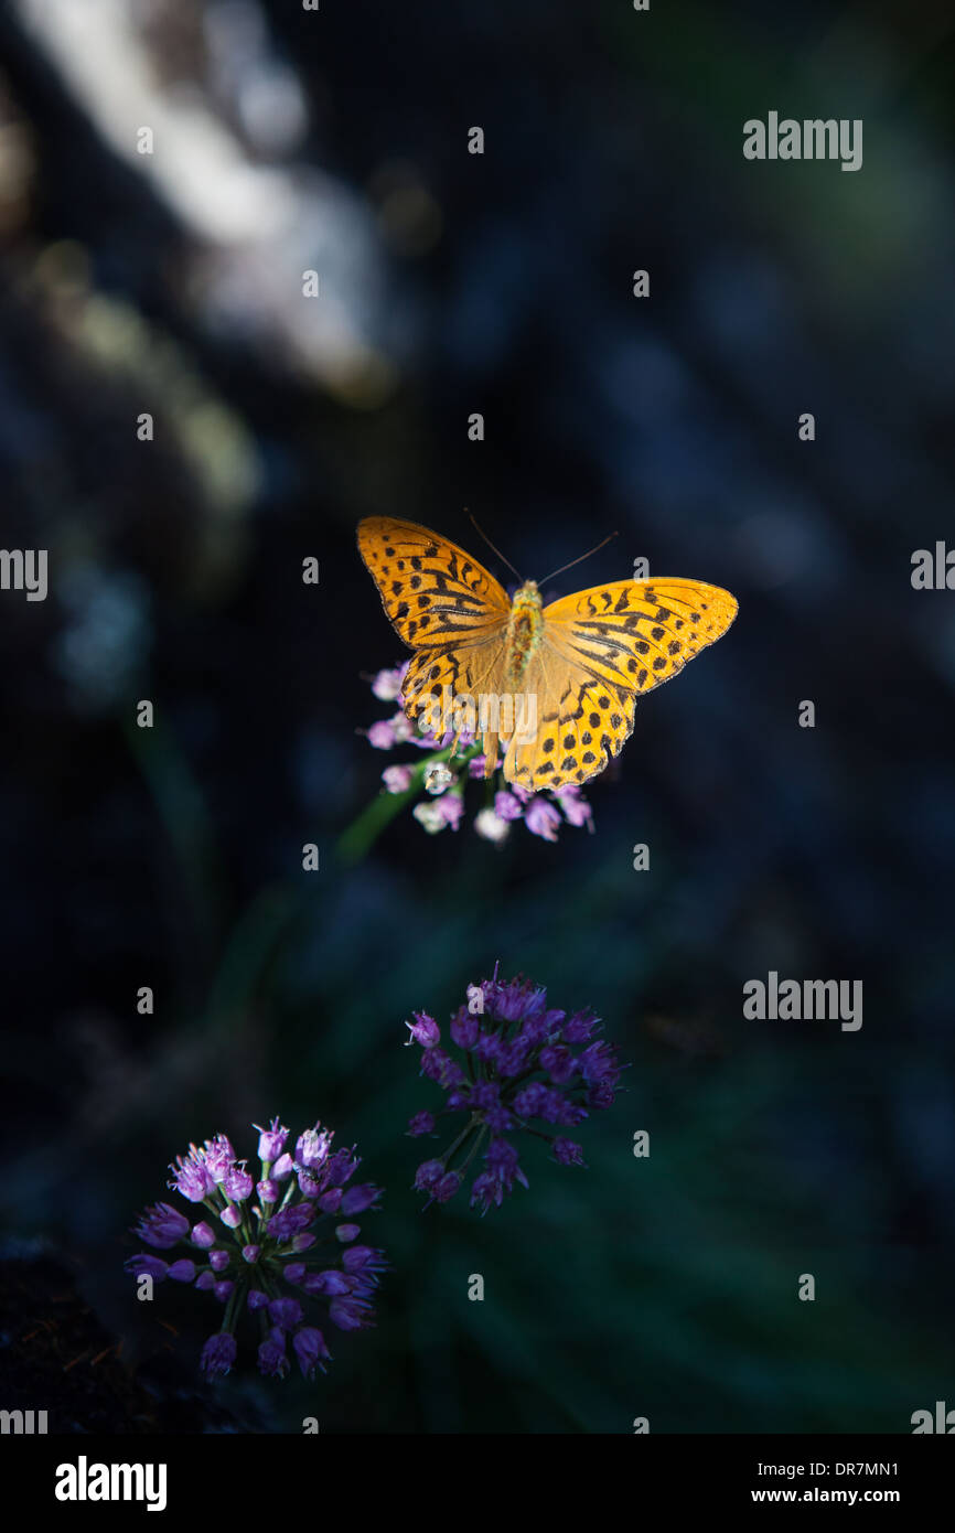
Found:
[[[273,1378],[290,1371],[290,1341],[307,1378],[314,1378],[316,1367],[325,1372],[331,1354],[323,1334],[307,1323],[308,1300],[319,1300],[339,1331],[374,1323],[372,1298],[386,1262],[382,1251],[357,1243],[362,1231],[354,1219],[377,1206],[380,1188],[346,1185],[360,1160],[354,1147],[333,1153],[328,1128],[307,1128],[294,1153],[285,1150],[287,1139],[277,1118],[259,1128],[258,1180],[225,1134],[202,1148],[190,1145],[170,1165],[169,1185],[185,1202],[202,1203],[210,1217],[193,1223],[172,1203],[153,1203],[135,1226],[153,1251],[184,1246],[190,1256],[139,1252],[126,1262],[127,1272],[155,1283],[190,1283],[224,1306],[221,1328],[202,1348],[201,1364],[212,1378],[228,1374],[236,1361],[244,1311],[259,1326],[259,1371]]]

